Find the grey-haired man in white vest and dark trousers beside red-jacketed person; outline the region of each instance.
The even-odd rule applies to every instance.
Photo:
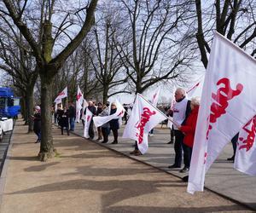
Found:
[[[173,106],[173,110],[170,111],[170,115],[173,118],[173,121],[182,125],[185,123],[186,118],[188,118],[191,111],[190,101],[186,98],[186,92],[183,88],[178,88],[175,91],[175,101],[176,103]],[[183,132],[177,129],[177,126],[174,125],[174,151],[175,151],[175,160],[174,164],[168,166],[169,169],[172,168],[181,168],[182,164],[182,154],[184,161],[184,168],[181,172],[189,171],[189,152],[186,147],[183,147]]]

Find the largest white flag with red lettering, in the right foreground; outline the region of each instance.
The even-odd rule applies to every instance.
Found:
[[[201,95],[188,192],[203,191],[205,173],[224,146],[256,114],[256,62],[216,33]]]

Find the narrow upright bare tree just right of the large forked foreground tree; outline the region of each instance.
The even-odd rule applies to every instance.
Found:
[[[98,12],[98,21],[94,26],[95,48],[90,51],[90,61],[96,73],[96,79],[102,86],[102,101],[119,93],[131,93],[119,85],[127,82],[125,66],[116,49],[115,41],[120,36],[121,13],[116,3],[104,3]]]

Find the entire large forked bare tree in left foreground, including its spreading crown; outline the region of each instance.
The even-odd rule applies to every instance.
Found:
[[[37,61],[41,78],[42,142],[38,154],[41,160],[53,156],[55,151],[51,130],[53,80],[67,57],[77,49],[90,31],[90,27],[94,23],[94,12],[97,4],[97,0],[91,0],[85,5],[73,5],[65,2],[63,4],[58,2],[58,6],[61,5],[61,7],[57,9],[55,0],[34,2],[3,0],[0,10],[2,14],[10,17],[15,26],[18,27],[26,42],[29,43],[32,55]],[[67,5],[71,9],[68,9]],[[78,7],[75,8],[76,6]],[[33,9],[33,12],[29,9]],[[55,26],[53,22],[55,25],[59,25]],[[74,32],[72,26],[81,27],[79,31]],[[39,38],[36,33],[38,33]],[[60,45],[62,46],[61,49]],[[55,52],[53,52],[54,50]]]

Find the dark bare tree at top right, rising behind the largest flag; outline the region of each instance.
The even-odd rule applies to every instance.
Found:
[[[205,68],[207,54],[211,51],[209,43],[215,30],[237,43],[241,49],[247,49],[252,56],[256,55],[255,1],[217,0],[202,6],[201,0],[195,0],[195,9],[198,24],[196,39]]]

